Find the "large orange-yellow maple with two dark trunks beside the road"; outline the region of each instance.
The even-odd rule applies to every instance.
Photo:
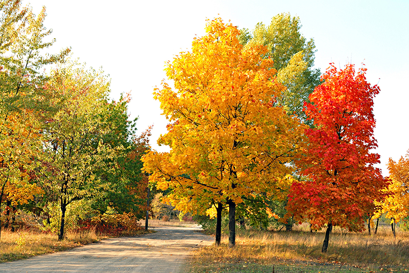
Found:
[[[149,181],[169,189],[169,201],[180,211],[217,211],[219,243],[222,205],[229,206],[229,245],[235,245],[236,204],[261,192],[285,198],[289,163],[303,145],[304,126],[278,106],[284,90],[263,45],[243,47],[239,30],[220,18],[209,20],[207,35],[195,38],[191,52],[168,62],[174,81],[155,89],[170,121],[158,144],[170,152],[143,157]]]

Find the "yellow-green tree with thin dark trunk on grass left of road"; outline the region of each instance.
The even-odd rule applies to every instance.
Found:
[[[98,193],[101,178],[97,171],[123,146],[112,147],[103,141],[108,126],[100,117],[107,114],[109,82],[101,71],[66,64],[53,70],[45,88],[56,93],[58,111],[43,132],[39,179],[58,196],[58,239],[62,240],[67,206]]]

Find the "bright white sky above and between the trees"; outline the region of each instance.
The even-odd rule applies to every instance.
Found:
[[[352,60],[365,63],[367,79],[378,84],[375,98],[375,137],[383,175],[386,163],[409,150],[409,1],[94,1],[25,0],[36,14],[47,8],[45,26],[57,39],[53,51],[71,46],[74,57],[110,75],[112,97],[132,94],[131,118],[139,116],[139,132],[153,127],[151,145],[166,133],[166,119],[152,98],[154,86],[165,78],[164,63],[188,50],[195,34],[205,34],[206,18],[221,17],[241,28],[254,29],[257,22],[289,12],[299,16],[301,32],[313,38],[315,67],[324,72],[330,62],[338,67]]]

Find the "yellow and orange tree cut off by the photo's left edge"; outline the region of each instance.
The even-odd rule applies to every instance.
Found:
[[[35,16],[18,0],[0,2],[0,205],[4,198],[25,204],[40,191],[30,171],[41,146],[41,121],[50,110],[47,91],[38,88],[45,79],[41,70],[69,52],[43,53],[54,43],[44,41],[51,34],[45,17],[45,9]]]

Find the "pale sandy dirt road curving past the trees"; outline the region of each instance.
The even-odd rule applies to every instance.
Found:
[[[65,252],[0,264],[0,272],[16,273],[177,273],[193,249],[213,242],[198,227],[157,227],[156,233],[102,240]]]

